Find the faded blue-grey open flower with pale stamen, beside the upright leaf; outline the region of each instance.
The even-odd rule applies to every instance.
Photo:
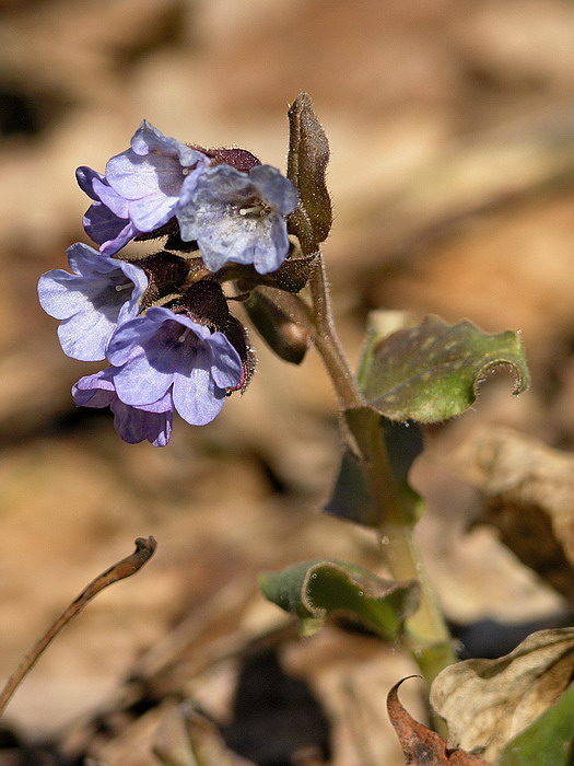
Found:
[[[270,165],[249,173],[215,165],[203,170],[194,187],[183,189],[176,218],[181,239],[197,241],[211,271],[232,260],[268,274],[288,255],[283,216],[296,205],[295,187]]]

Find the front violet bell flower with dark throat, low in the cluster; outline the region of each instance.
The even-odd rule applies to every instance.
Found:
[[[192,426],[213,420],[226,390],[243,383],[239,355],[223,333],[163,306],[121,325],[107,357],[119,368],[114,384],[124,404],[148,407],[171,391],[175,409]]]

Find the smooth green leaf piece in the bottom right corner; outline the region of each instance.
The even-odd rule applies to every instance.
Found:
[[[571,766],[574,759],[574,685],[502,751],[499,766]]]

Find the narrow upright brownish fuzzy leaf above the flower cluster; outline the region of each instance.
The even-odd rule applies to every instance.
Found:
[[[298,192],[290,231],[298,236],[305,255],[311,255],[327,239],[332,225],[331,199],[325,182],[329,142],[308,93],[300,93],[288,114],[288,176]]]

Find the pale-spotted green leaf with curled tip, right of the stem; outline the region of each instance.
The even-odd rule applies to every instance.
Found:
[[[487,372],[508,365],[516,374],[514,394],[529,385],[517,333],[491,335],[470,322],[450,325],[427,316],[373,340],[361,372],[368,404],[391,420],[437,422],[472,406]]]

